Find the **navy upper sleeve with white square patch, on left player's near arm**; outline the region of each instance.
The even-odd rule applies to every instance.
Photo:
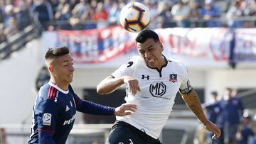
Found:
[[[57,103],[52,99],[41,101],[37,106],[38,131],[55,133],[58,118]]]

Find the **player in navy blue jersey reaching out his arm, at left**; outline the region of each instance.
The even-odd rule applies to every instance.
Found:
[[[73,59],[66,47],[46,52],[50,82],[39,90],[33,106],[33,126],[29,144],[65,144],[73,128],[76,111],[95,115],[127,116],[137,109],[134,104],[117,108],[81,100],[73,91]]]

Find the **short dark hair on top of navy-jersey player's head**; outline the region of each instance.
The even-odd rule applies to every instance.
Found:
[[[67,55],[67,54],[69,54],[69,50],[65,46],[60,48],[49,48],[49,50],[46,52],[45,58],[46,60],[48,60],[48,59],[53,59],[56,57]]]

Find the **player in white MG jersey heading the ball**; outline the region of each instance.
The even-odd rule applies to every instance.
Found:
[[[162,54],[163,45],[154,31],[140,32],[136,41],[140,57],[132,57],[126,65],[97,85],[97,93],[110,94],[126,84],[125,101],[137,105],[137,111],[131,115],[117,116],[108,143],[161,143],[158,138],[178,91],[205,128],[213,132],[213,139],[218,138],[220,129],[208,121],[203,113],[198,95],[189,82],[186,67]]]

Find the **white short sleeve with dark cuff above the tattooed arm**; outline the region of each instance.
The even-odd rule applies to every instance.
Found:
[[[183,77],[181,80],[181,87],[179,89],[179,92],[181,94],[188,94],[189,92],[192,91],[192,86],[191,83],[189,82],[188,79],[188,70],[186,70],[186,67],[183,67]]]

